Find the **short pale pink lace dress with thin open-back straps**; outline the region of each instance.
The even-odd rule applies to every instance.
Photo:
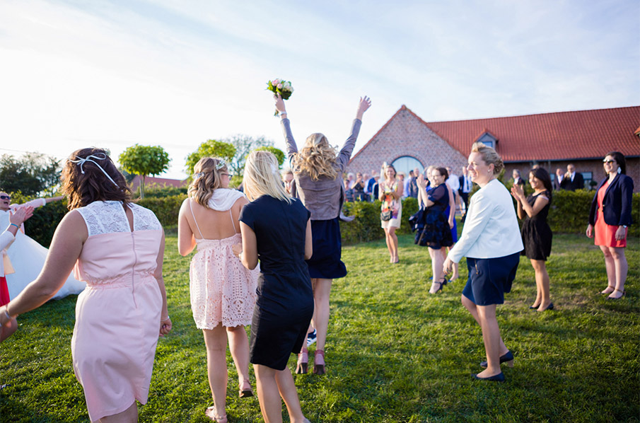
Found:
[[[202,238],[189,201],[189,209],[200,235],[200,238],[195,238],[198,251],[191,260],[189,270],[191,311],[196,327],[213,329],[219,323],[226,328],[249,325],[260,270],[248,270],[233,254],[231,247],[242,243],[240,233],[222,239]],[[233,225],[231,208],[228,212]]]

